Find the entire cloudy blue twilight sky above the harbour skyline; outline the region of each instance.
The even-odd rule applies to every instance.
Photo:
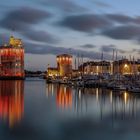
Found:
[[[139,58],[140,0],[1,0],[0,44],[10,35],[25,47],[25,68],[46,70],[55,56],[84,60],[118,55]]]

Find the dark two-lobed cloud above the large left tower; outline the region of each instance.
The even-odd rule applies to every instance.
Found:
[[[50,13],[43,10],[22,7],[8,13],[0,21],[0,25],[5,29],[15,30],[32,41],[56,43],[58,39],[50,33],[33,29],[33,25],[40,23],[50,16]]]

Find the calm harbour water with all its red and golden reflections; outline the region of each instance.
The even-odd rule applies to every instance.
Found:
[[[139,138],[139,95],[44,80],[0,81],[0,140]]]

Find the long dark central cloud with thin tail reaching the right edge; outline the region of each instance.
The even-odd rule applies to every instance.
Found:
[[[93,32],[116,27],[116,24],[138,24],[138,17],[130,17],[121,14],[83,14],[65,17],[59,25],[76,31]]]

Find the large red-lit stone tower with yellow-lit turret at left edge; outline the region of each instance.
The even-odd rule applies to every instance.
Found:
[[[10,37],[9,44],[0,47],[0,78],[24,79],[24,48],[21,39]]]

